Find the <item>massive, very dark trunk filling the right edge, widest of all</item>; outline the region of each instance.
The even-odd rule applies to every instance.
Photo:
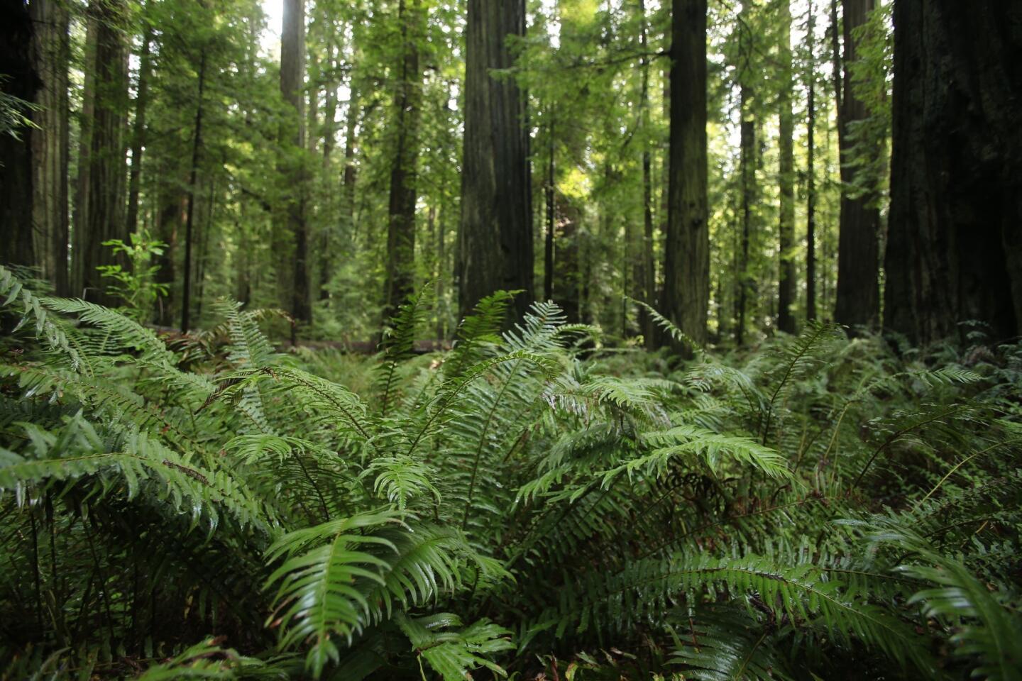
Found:
[[[925,344],[1022,325],[1022,8],[894,4],[885,327]]]

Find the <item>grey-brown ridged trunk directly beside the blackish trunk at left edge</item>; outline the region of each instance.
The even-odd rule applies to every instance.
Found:
[[[30,5],[35,25],[33,56],[41,79],[29,134],[33,160],[33,233],[36,260],[57,295],[68,295],[67,144],[71,61],[67,8],[54,0]]]

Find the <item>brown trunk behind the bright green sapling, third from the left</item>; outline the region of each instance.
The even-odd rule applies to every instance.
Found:
[[[128,110],[128,51],[121,23],[127,11],[123,0],[93,0],[89,3],[92,29],[95,32],[94,52],[86,70],[94,72],[92,115],[88,132],[89,151],[84,159],[87,165],[83,189],[81,222],[76,223],[79,233],[76,244],[81,258],[82,292],[87,300],[113,305],[119,301],[105,294],[105,282],[97,267],[112,264],[127,265],[123,258],[114,258],[109,239],[127,240],[125,232],[125,180],[126,158],[124,132]],[[88,86],[87,86],[88,87]],[[86,93],[89,98],[89,93]],[[89,107],[85,113],[88,115]],[[83,159],[79,159],[79,167]]]

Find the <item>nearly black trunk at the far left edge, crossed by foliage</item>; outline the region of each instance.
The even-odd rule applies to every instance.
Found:
[[[32,102],[36,92],[44,87],[32,56],[33,17],[21,2],[7,5],[7,15],[0,21],[0,74],[7,78],[0,86],[5,95]],[[0,256],[3,263],[37,264],[39,254],[33,237],[33,132],[28,128],[0,131],[0,225],[10,235],[4,239]]]

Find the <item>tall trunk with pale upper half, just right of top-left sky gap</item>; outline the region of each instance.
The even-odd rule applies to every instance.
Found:
[[[280,42],[280,94],[289,105],[287,123],[281,127],[281,140],[286,146],[304,150],[306,126],[303,115],[305,96],[305,0],[284,0],[284,16]],[[286,234],[292,239],[290,282],[290,309],[294,324],[291,326],[291,343],[297,337],[299,323],[312,323],[312,300],[309,285],[309,233],[305,203],[308,178],[299,159],[284,163],[285,181],[291,188],[284,206]]]

